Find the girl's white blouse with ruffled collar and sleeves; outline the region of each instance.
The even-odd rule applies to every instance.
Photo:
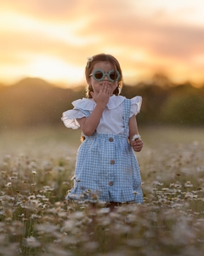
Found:
[[[99,121],[99,125],[96,129],[98,133],[104,134],[123,134],[124,133],[124,121],[123,121],[123,104],[125,100],[124,96],[111,96],[107,103],[102,117]],[[131,99],[131,111],[130,116],[137,114],[140,111],[142,104],[142,97],[135,96]],[[82,113],[80,109],[88,110],[92,113],[96,102],[93,99],[82,98],[72,102],[73,109],[67,110],[63,113],[62,121],[67,128],[77,129],[80,127],[77,119],[86,117],[85,113]]]

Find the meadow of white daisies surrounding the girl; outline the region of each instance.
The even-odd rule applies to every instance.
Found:
[[[139,131],[144,204],[114,212],[65,201],[80,131],[1,131],[0,255],[203,255],[203,128]]]

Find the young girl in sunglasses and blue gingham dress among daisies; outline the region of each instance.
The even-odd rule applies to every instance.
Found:
[[[112,55],[88,58],[85,68],[87,98],[72,102],[63,113],[66,127],[81,128],[84,138],[77,151],[74,187],[66,199],[143,202],[138,161],[133,152],[143,148],[135,115],[142,99],[119,96],[122,70]]]

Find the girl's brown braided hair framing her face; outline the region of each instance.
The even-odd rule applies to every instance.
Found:
[[[109,61],[112,64],[112,66],[114,67],[114,69],[117,70],[121,75],[118,80],[118,86],[116,87],[116,90],[113,91],[113,94],[118,96],[120,94],[120,91],[122,90],[122,70],[121,70],[121,66],[120,66],[119,62],[116,60],[116,58],[112,55],[99,54],[99,55],[94,55],[94,56],[90,57],[90,60],[92,60],[92,61],[88,61],[87,66],[85,68],[85,77],[86,77],[87,83],[88,83],[89,75],[93,71],[94,65],[99,61]],[[88,85],[87,94],[86,94],[86,96],[88,98],[92,98],[90,91],[93,91],[93,88],[91,85]]]

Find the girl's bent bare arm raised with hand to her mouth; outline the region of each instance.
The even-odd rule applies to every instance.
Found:
[[[111,96],[111,89],[109,86],[101,86],[99,90],[99,94],[90,92],[94,102],[96,102],[96,106],[94,111],[90,114],[88,118],[77,119],[82,132],[86,136],[91,136],[99,125],[99,121],[101,119],[102,113],[104,112],[105,106],[109,101],[109,97]]]

